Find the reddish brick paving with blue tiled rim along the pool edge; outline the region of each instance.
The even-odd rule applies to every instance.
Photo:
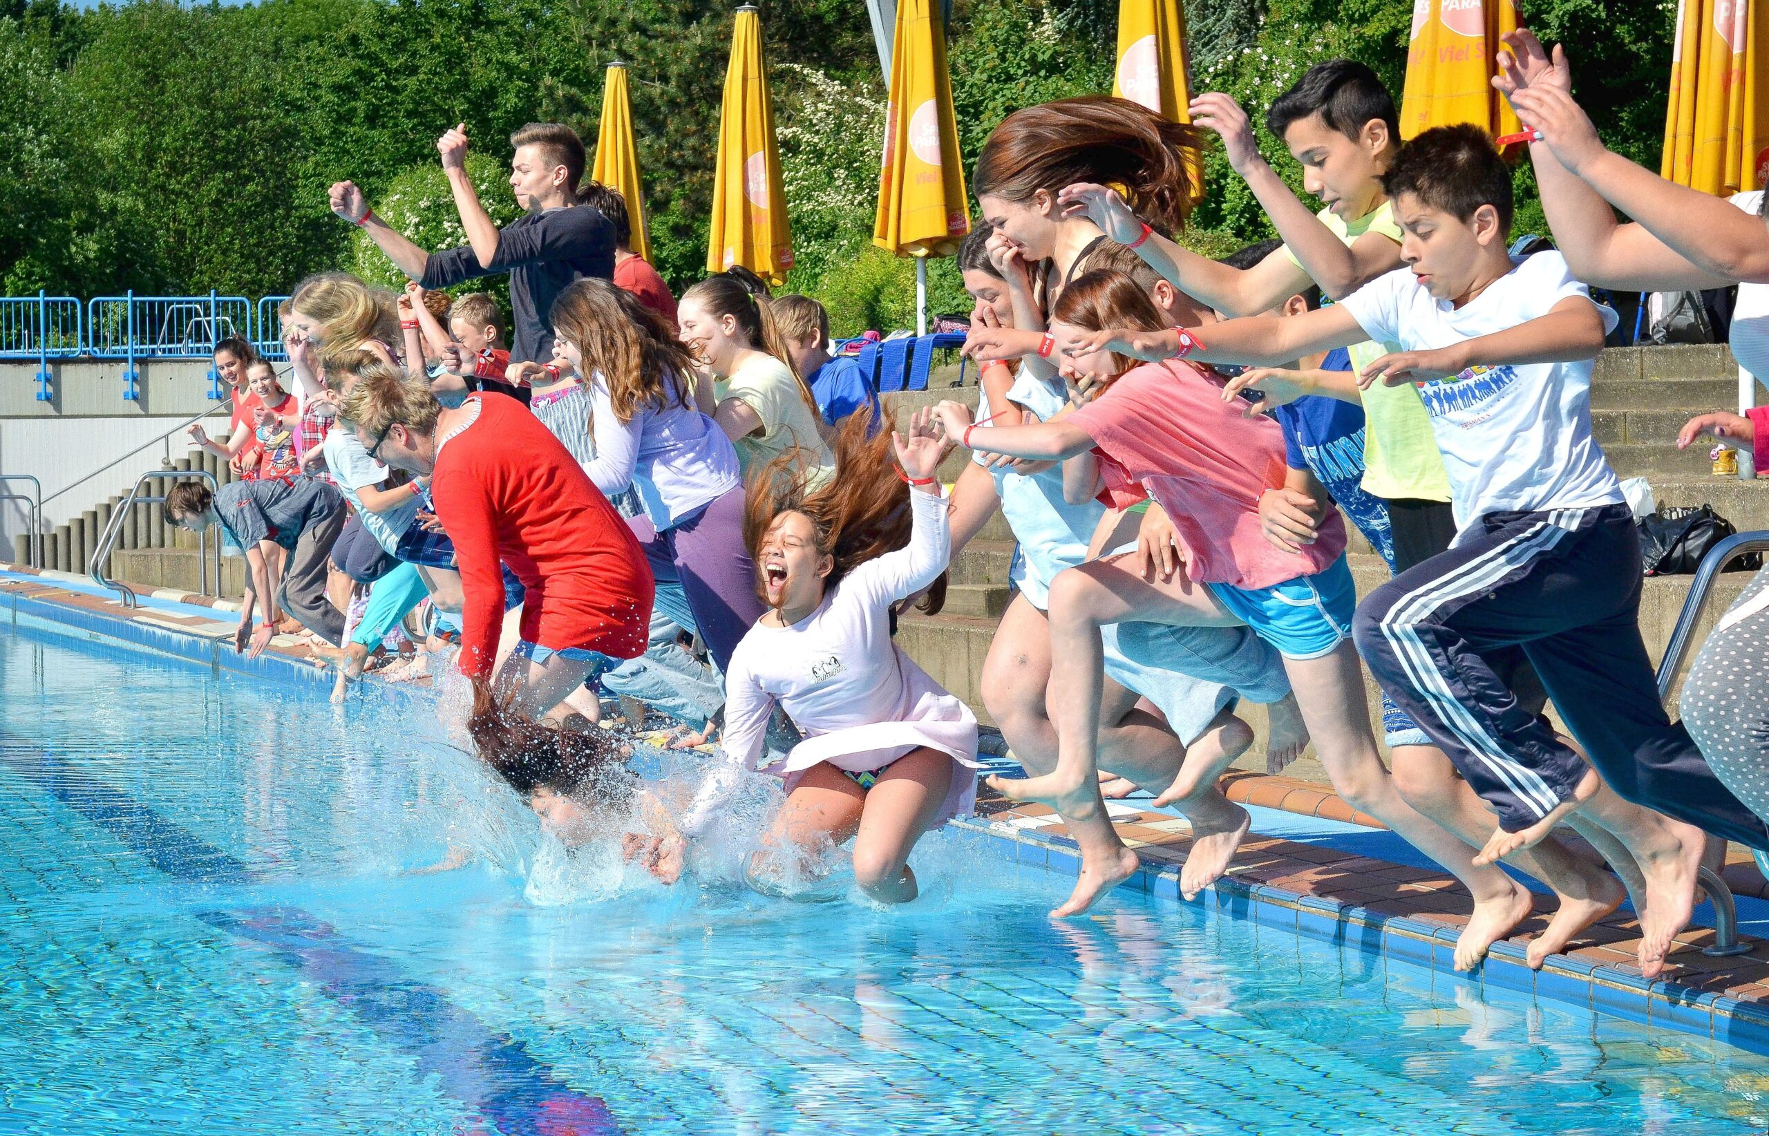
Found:
[[[88,618],[136,623],[161,633],[189,633],[214,641],[198,616],[152,609],[124,609],[117,600],[57,587],[53,575],[7,564],[5,572],[39,575],[41,582],[0,580],[0,596],[76,609]],[[168,589],[138,589],[156,600],[214,607],[237,621],[237,605],[212,596]],[[315,676],[311,649],[288,635],[271,641],[274,655]],[[225,656],[234,656],[228,648]],[[329,678],[329,676],[327,676]],[[373,681],[373,676],[368,676]],[[1380,821],[1346,805],[1330,787],[1291,777],[1231,771],[1219,782],[1229,800],[1281,809],[1300,816],[1383,828]],[[1113,823],[1143,869],[1125,888],[1180,899],[1178,869],[1191,848],[1189,826],[1166,812],[1134,803],[1109,802]],[[975,832],[1005,837],[1022,862],[1058,871],[1076,869],[1076,844],[1047,805],[1010,805],[987,787],[978,791],[978,816],[959,821]],[[1721,872],[1734,894],[1769,899],[1769,881],[1757,872],[1750,853],[1727,848]],[[1617,1017],[1661,1025],[1684,1033],[1702,1033],[1757,1053],[1769,1053],[1769,940],[1741,936],[1751,950],[1712,959],[1702,947],[1714,938],[1711,927],[1691,927],[1677,936],[1668,977],[1647,980],[1633,963],[1638,924],[1631,915],[1613,915],[1587,929],[1566,954],[1551,956],[1539,971],[1528,970],[1523,952],[1546,925],[1553,899],[1535,897],[1535,913],[1520,933],[1495,943],[1489,957],[1467,975],[1451,968],[1456,934],[1472,908],[1467,890],[1447,872],[1359,856],[1323,844],[1249,833],[1228,874],[1196,902],[1284,931],[1390,956],[1444,973],[1449,982],[1535,993],[1574,1002]]]

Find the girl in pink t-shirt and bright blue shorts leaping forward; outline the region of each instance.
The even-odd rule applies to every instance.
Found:
[[[1148,296],[1122,272],[1081,276],[1051,317],[1051,357],[1086,331],[1162,327]],[[1084,911],[1137,867],[1136,853],[1111,826],[1097,777],[1100,626],[1129,621],[1251,626],[1284,656],[1302,718],[1339,796],[1438,860],[1475,897],[1509,894],[1497,867],[1475,867],[1474,848],[1401,800],[1382,764],[1364,672],[1350,642],[1357,596],[1344,563],[1344,522],[1330,513],[1300,550],[1279,549],[1261,534],[1260,495],[1283,485],[1284,474],[1277,423],[1224,403],[1221,380],[1185,363],[1137,366],[1111,352],[1063,359],[1065,379],[1104,393],[1051,421],[978,428],[966,405],[938,407],[946,432],[968,448],[1068,460],[1072,499],[1146,492],[1162,510],[1150,511],[1136,554],[1090,561],[1051,584],[1051,655],[1074,665],[1074,681],[1051,692],[1056,771],[991,782],[1012,800],[1051,803],[1081,846],[1081,879],[1053,915]],[[1175,559],[1162,573],[1162,561]],[[1145,572],[1148,561],[1152,570]],[[1226,865],[1245,833],[1245,821],[1235,832],[1206,833],[1191,855]]]

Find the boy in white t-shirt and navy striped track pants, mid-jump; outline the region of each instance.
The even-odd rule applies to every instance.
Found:
[[[1511,260],[1511,172],[1479,127],[1413,138],[1387,188],[1408,267],[1339,304],[1198,333],[1102,333],[1077,349],[1256,365],[1366,338],[1405,349],[1362,380],[1421,388],[1459,533],[1359,605],[1359,649],[1498,814],[1482,858],[1539,840],[1574,809],[1627,846],[1645,876],[1640,968],[1656,975],[1689,920],[1702,828],[1758,848],[1769,832],[1658,699],[1638,625],[1640,541],[1590,432],[1590,361],[1613,313],[1558,253]],[[1481,658],[1509,644],[1601,782]]]

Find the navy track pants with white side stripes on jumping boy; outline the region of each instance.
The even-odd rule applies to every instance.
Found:
[[[1357,609],[1359,651],[1505,832],[1573,796],[1585,763],[1481,655],[1521,646],[1590,764],[1638,805],[1728,840],[1769,830],[1672,724],[1640,639],[1640,538],[1626,504],[1489,513]]]

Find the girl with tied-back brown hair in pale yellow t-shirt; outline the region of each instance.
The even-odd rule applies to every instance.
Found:
[[[676,319],[681,342],[711,377],[709,391],[695,391],[699,405],[738,446],[745,480],[782,455],[794,455],[791,469],[814,481],[831,478],[817,400],[793,370],[771,301],[720,272],[683,294]]]

